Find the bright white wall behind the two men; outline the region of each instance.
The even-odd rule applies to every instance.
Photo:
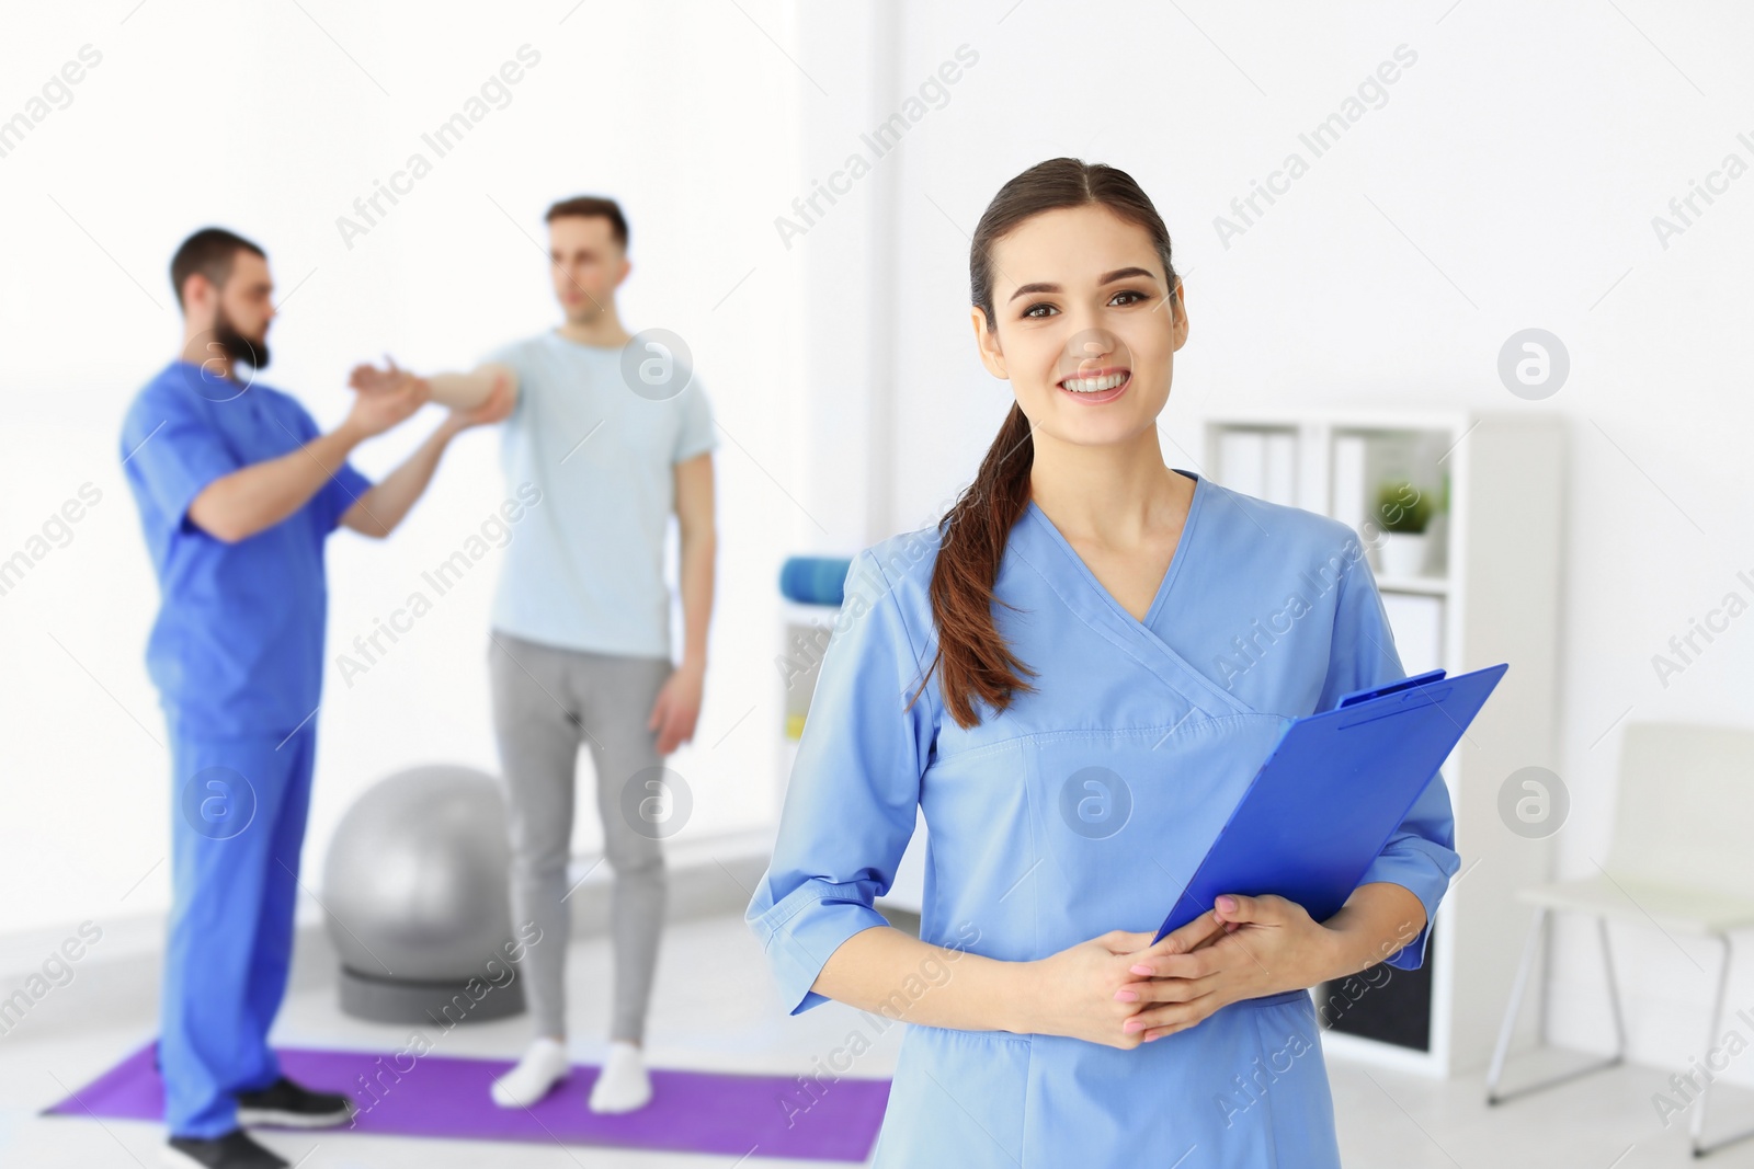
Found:
[[[168,904],[165,733],[142,662],[156,589],[118,431],[181,340],[170,254],[209,223],[267,247],[284,305],[263,380],[332,426],[356,361],[388,351],[417,368],[467,365],[553,326],[542,212],[577,193],[623,202],[633,259],[623,321],[691,344],[721,422],[705,710],[668,764],[695,792],[689,834],[768,820],[781,726],[770,613],[779,561],[800,547],[788,492],[803,494],[786,429],[800,284],[770,224],[796,188],[798,86],[777,47],[793,40],[791,9],[44,9],[28,30],[14,19],[26,35],[0,40],[0,117],[81,46],[102,53],[72,103],[0,158],[0,554],[81,484],[102,491],[72,542],[0,596],[0,934]],[[540,63],[509,86],[510,103],[349,249],[337,216],[524,44]],[[358,464],[389,470],[437,421],[430,407],[363,447]],[[337,535],[332,657],[503,494],[496,438],[474,431],[388,543]],[[482,670],[493,575],[442,598],[351,687],[332,664],[307,873],[337,817],[384,773],[440,759],[495,768]],[[598,840],[595,815],[581,813],[579,847]]]

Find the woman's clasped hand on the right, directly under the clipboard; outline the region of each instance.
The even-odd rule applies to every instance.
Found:
[[[1338,960],[1335,931],[1298,903],[1223,896],[1210,913],[1131,955],[1126,981],[1116,987],[1116,1001],[1130,1008],[1121,1025],[1149,1043],[1221,1006],[1314,987]]]

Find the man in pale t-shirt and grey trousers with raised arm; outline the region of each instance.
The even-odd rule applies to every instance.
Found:
[[[554,296],[567,322],[495,349],[470,373],[423,382],[433,401],[477,408],[512,396],[507,487],[530,499],[493,601],[488,650],[495,733],[509,792],[512,911],[540,941],[524,957],[537,1038],[493,1083],[503,1108],[533,1104],[568,1069],[565,899],[574,769],[596,766],[596,808],[614,871],[614,1015],[595,1111],[651,1099],[640,1059],[663,931],[660,838],[674,797],[661,759],[695,734],[707,666],[716,535],[712,410],[681,338],[630,337],[614,291],[631,265],[628,224],[605,198],[547,212]],[[412,375],[360,366],[356,387]],[[665,538],[681,535],[682,654],[672,664]]]

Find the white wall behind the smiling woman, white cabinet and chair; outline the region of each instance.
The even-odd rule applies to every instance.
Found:
[[[909,4],[888,107],[961,44],[979,63],[884,159],[896,200],[895,454],[879,487],[888,501],[872,510],[891,517],[888,531],[937,517],[1010,403],[968,328],[968,235],[982,209],[1044,158],[1107,161],[1152,196],[1186,275],[1193,335],[1163,419],[1173,464],[1194,466],[1198,422],[1216,410],[1396,403],[1568,419],[1556,769],[1573,811],[1558,875],[1591,875],[1607,855],[1619,726],[1754,726],[1754,617],[1666,687],[1651,662],[1726,592],[1754,599],[1736,582],[1754,570],[1754,177],[1666,249],[1651,224],[1724,154],[1754,165],[1754,14],[1728,2]],[[1417,60],[1386,103],[1316,158],[1300,131],[1401,44]],[[810,130],[823,135],[814,156],[838,156],[852,137]],[[1214,219],[1291,151],[1308,172],[1226,247]],[[866,344],[833,300],[812,301],[809,319],[819,361],[849,333]],[[1528,326],[1572,354],[1570,382],[1545,403],[1514,398],[1496,375],[1500,347]],[[840,442],[852,456],[856,440]],[[1505,929],[1521,936],[1526,920]],[[1561,931],[1552,1038],[1607,1050],[1589,941]],[[1615,943],[1633,1057],[1679,1069],[1701,1055],[1715,950],[1631,929]],[[1750,964],[1729,985],[1731,1010],[1747,1004]],[[1754,1069],[1729,1076],[1754,1081]]]

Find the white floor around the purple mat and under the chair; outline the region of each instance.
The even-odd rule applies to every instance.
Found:
[[[609,953],[602,939],[577,945],[570,960],[575,1060],[598,1060],[607,1029]],[[651,1062],[665,1067],[802,1073],[812,1057],[838,1046],[858,1015],[837,1003],[786,1017],[768,987],[766,966],[740,918],[709,918],[675,925],[665,936],[660,983],[647,1029]],[[438,1048],[447,1055],[514,1055],[528,1020],[458,1027]],[[281,1013],[275,1041],[291,1046],[393,1050],[407,1029],[361,1024],[340,1015],[333,992],[293,995]],[[900,1041],[889,1032],[868,1052],[854,1076],[888,1076]],[[139,1122],[42,1118],[58,1101],[146,1043],[153,1022],[135,1027],[81,1031],[19,1043],[0,1041],[0,1165],[153,1165],[163,1132]],[[1540,1055],[1512,1066],[1507,1087],[1538,1071]],[[1579,1057],[1580,1059],[1580,1057]],[[1431,1081],[1375,1067],[1330,1060],[1340,1146],[1349,1169],[1484,1169],[1580,1167],[1658,1169],[1705,1165],[1754,1167],[1754,1141],[1735,1144],[1703,1162],[1687,1155],[1684,1120],[1665,1132],[1651,1095],[1666,1071],[1621,1067],[1487,1109],[1480,1080]],[[1754,1095],[1726,1088],[1714,1102],[1714,1129],[1754,1125]],[[531,1169],[682,1169],[700,1165],[791,1165],[807,1162],[731,1157],[640,1153],[589,1146],[484,1144],[417,1141],[360,1134],[261,1132],[261,1141],[300,1169],[382,1169],[463,1165],[528,1165]],[[838,1162],[821,1162],[838,1164]]]

